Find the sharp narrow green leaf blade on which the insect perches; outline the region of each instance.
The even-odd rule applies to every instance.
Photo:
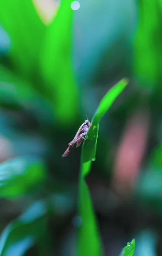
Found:
[[[98,234],[93,205],[84,177],[90,172],[92,160],[95,160],[99,121],[110,108],[116,97],[119,96],[122,90],[124,90],[127,83],[127,79],[122,79],[118,84],[111,88],[101,100],[86,136],[90,141],[86,141],[82,146],[78,215],[83,219],[83,224],[78,228],[78,256],[102,255],[101,241]]]

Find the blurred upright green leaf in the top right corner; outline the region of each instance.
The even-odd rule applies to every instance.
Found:
[[[138,22],[134,38],[133,72],[141,86],[155,87],[161,80],[161,1],[137,1]],[[150,18],[151,11],[151,18]],[[141,61],[142,58],[142,61]]]

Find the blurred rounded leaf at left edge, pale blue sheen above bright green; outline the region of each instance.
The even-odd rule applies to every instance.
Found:
[[[0,164],[0,197],[25,195],[46,179],[46,168],[36,157],[17,157]]]

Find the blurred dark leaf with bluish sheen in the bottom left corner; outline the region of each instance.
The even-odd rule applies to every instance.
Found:
[[[23,256],[42,237],[46,241],[47,208],[37,201],[3,230],[0,236],[0,256]]]

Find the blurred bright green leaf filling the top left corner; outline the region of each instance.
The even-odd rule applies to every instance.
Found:
[[[32,0],[1,0],[0,24],[11,38],[9,56],[21,75],[35,74],[46,26]]]

